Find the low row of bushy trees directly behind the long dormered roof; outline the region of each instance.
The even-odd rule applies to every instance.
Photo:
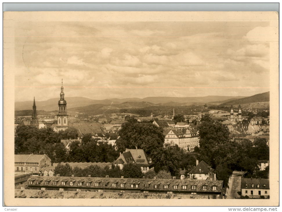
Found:
[[[157,179],[171,179],[171,174],[165,170],[159,171],[158,174],[154,170],[150,170],[147,173],[142,173],[140,166],[136,164],[125,164],[123,169],[121,170],[119,166],[114,166],[110,168],[106,166],[101,168],[100,166],[91,165],[86,168],[75,167],[72,168],[69,164],[58,164],[54,170],[54,175],[59,174],[60,176],[69,177],[74,175],[75,177],[105,177],[108,175],[113,178],[120,178],[124,176],[125,178],[142,178],[145,177],[147,179],[153,179],[153,177],[157,177]]]

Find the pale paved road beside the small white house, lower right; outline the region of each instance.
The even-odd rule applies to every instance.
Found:
[[[233,171],[230,182],[229,182],[229,189],[226,193],[226,199],[237,199],[240,198],[240,195],[237,193],[241,191],[241,178],[243,172],[240,171]]]

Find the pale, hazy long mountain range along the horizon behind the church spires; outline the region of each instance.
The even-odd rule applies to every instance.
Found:
[[[188,105],[203,105],[221,104],[224,101],[231,101],[244,98],[245,96],[202,96],[202,97],[146,97],[146,98],[112,98],[104,100],[93,100],[85,97],[66,97],[67,108],[77,108],[89,105],[93,109],[97,107],[111,109],[128,109],[128,108],[142,108],[150,106],[188,106]],[[36,100],[36,99],[35,99]],[[58,109],[59,98],[52,98],[46,101],[36,101],[37,110],[53,111]],[[25,102],[16,102],[15,110],[30,110],[32,109],[33,100]],[[104,105],[104,106],[103,106]],[[102,108],[104,109],[104,108]]]

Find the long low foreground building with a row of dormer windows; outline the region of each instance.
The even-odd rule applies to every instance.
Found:
[[[223,198],[223,181],[31,176],[26,189],[111,193],[208,195]],[[188,198],[188,197],[187,197]]]

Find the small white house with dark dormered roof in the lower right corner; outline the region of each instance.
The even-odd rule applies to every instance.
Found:
[[[267,198],[270,196],[269,179],[242,178],[241,192],[242,196],[247,195],[250,198]]]

